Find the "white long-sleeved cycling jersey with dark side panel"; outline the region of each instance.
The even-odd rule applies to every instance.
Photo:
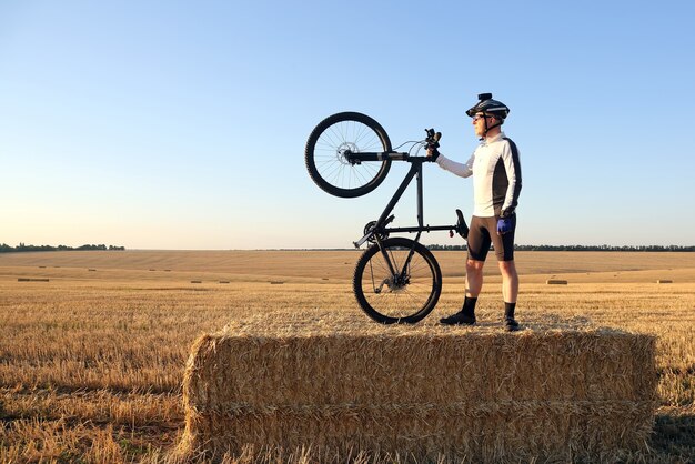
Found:
[[[485,139],[466,163],[440,154],[436,163],[462,178],[473,175],[473,215],[492,218],[502,211],[511,214],[521,192],[521,164],[516,144],[500,132]]]

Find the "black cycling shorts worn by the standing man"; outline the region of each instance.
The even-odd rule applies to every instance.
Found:
[[[490,244],[495,249],[497,261],[512,261],[514,259],[516,214],[512,214],[512,230],[504,235],[497,235],[497,216],[473,216],[469,231],[469,259],[485,261]]]

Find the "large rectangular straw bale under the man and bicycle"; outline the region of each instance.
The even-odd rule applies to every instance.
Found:
[[[645,452],[652,433],[652,335],[264,322],[193,344],[179,453],[596,462]]]

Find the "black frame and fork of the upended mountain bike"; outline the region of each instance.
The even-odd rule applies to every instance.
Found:
[[[432,231],[450,231],[453,233],[456,230],[456,225],[425,225],[424,224],[424,208],[423,208],[423,189],[422,189],[422,164],[425,162],[431,162],[432,160],[427,157],[412,157],[409,153],[401,152],[381,152],[381,153],[352,153],[345,152],[345,158],[349,162],[353,164],[360,164],[363,161],[383,161],[385,159],[391,160],[400,160],[407,161],[411,163],[411,168],[405,174],[405,179],[401,182],[401,185],[394,193],[393,198],[382,212],[376,223],[369,230],[362,239],[353,242],[355,248],[360,248],[364,242],[374,238],[376,243],[380,243],[380,234],[389,234],[391,232],[409,232],[409,233],[417,233],[415,236],[415,242],[420,240],[420,235],[422,232],[432,232]],[[417,184],[417,226],[406,226],[406,228],[386,228],[391,221],[393,221],[394,216],[391,215],[391,212],[395,208],[401,196],[410,185],[413,179],[416,179]],[[395,272],[394,272],[395,273]]]

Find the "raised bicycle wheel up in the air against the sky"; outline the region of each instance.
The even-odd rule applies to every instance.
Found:
[[[351,164],[344,157],[352,152],[391,151],[389,134],[366,114],[342,112],[328,117],[314,128],[306,141],[304,162],[309,175],[321,190],[335,196],[362,196],[386,178],[391,160]]]

